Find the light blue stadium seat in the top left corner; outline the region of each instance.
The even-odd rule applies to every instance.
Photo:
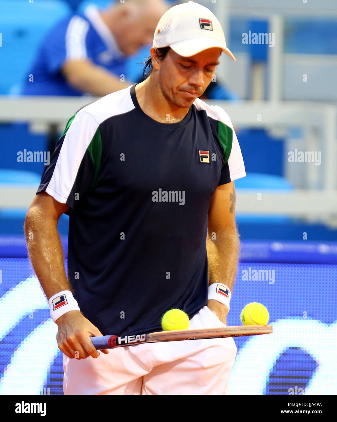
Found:
[[[0,94],[8,94],[14,85],[28,77],[32,60],[46,32],[71,12],[62,0],[1,0]],[[15,89],[13,89],[15,92]]]

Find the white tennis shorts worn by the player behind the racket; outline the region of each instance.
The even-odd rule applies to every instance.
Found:
[[[189,328],[225,327],[204,306]],[[110,349],[93,359],[63,354],[64,394],[226,394],[233,338],[169,341]]]

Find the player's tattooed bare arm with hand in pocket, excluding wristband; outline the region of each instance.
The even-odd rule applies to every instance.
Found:
[[[234,181],[219,186],[214,192],[208,211],[208,284],[226,284],[233,291],[240,241],[235,221]],[[226,324],[228,308],[216,300],[208,307]]]

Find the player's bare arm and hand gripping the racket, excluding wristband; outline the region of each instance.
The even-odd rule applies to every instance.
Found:
[[[33,200],[25,219],[29,257],[47,299],[62,290],[71,290],[64,269],[63,251],[57,225],[69,207],[41,192]],[[90,336],[100,331],[80,311],[69,311],[56,321],[58,347],[70,358],[98,357]],[[102,350],[107,353],[107,350]]]

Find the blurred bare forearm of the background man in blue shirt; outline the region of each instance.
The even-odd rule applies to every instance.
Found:
[[[69,60],[62,66],[63,76],[72,87],[82,92],[103,97],[111,92],[127,88],[131,82],[121,82],[120,77],[113,75],[101,66],[88,59]]]

